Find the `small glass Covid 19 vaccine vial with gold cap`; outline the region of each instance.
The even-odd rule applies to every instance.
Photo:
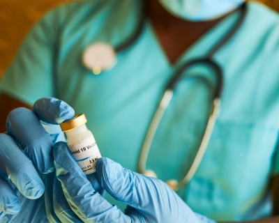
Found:
[[[92,132],[86,128],[86,122],[84,114],[77,114],[71,120],[61,123],[60,127],[66,133],[70,153],[87,175],[96,171],[96,162],[102,156]]]

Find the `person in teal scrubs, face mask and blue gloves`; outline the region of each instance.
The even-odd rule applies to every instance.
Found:
[[[243,14],[243,2],[88,0],[45,15],[0,82],[3,120],[36,102],[10,112],[0,135],[0,221],[279,221],[279,17],[254,2]],[[197,64],[176,84],[146,160],[161,180],[134,172],[146,131],[174,73],[207,58],[234,27],[210,54],[223,70],[220,115],[176,194],[161,180],[181,180],[193,164],[216,70]],[[84,61],[94,43],[122,49],[100,74]],[[57,124],[74,113],[86,114],[103,155],[87,178],[66,144],[54,144]],[[104,190],[128,204],[124,213]]]

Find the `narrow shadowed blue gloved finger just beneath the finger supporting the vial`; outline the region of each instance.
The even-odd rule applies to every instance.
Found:
[[[61,222],[82,222],[80,217],[70,208],[66,197],[63,194],[60,181],[55,177],[53,184],[53,207],[56,217]]]

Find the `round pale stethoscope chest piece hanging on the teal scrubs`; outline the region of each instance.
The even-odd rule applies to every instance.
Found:
[[[115,66],[116,52],[107,43],[93,43],[84,50],[82,61],[94,75],[99,75],[100,72],[111,70]]]

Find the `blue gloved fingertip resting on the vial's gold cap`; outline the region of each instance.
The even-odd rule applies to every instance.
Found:
[[[33,105],[33,112],[41,121],[52,125],[68,121],[75,116],[74,109],[57,98],[37,100]]]

